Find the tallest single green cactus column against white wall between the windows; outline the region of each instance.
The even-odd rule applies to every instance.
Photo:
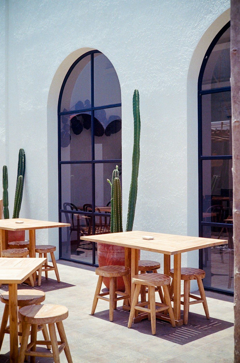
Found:
[[[132,98],[132,109],[134,118],[134,144],[132,151],[132,178],[129,192],[129,208],[127,212],[127,227],[126,231],[132,231],[136,199],[138,192],[138,169],[140,160],[140,111],[139,111],[139,93],[138,90],[134,91]]]

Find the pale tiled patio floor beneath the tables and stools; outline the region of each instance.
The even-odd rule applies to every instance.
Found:
[[[210,320],[206,319],[202,304],[192,305],[187,326],[172,328],[157,320],[153,336],[147,320],[127,328],[129,313],[122,310],[121,301],[114,310],[113,322],[109,322],[106,301],[98,301],[95,315],[90,315],[98,279],[95,268],[67,261],[57,263],[61,282],[58,284],[51,271],[48,280],[42,278],[39,289],[46,293],[45,303],[58,303],[69,309],[63,324],[73,363],[233,362],[233,297],[206,291]],[[26,285],[19,288],[26,289]],[[0,293],[7,289],[8,285],[2,285]],[[0,316],[3,309],[4,304],[0,303]],[[42,339],[41,332],[38,336]],[[46,351],[45,347],[41,350]],[[64,352],[60,361],[67,362]],[[9,335],[5,334],[0,363],[8,362]],[[36,363],[50,362],[52,358],[36,358]]]

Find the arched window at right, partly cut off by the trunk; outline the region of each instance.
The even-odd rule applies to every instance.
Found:
[[[200,251],[205,287],[233,291],[230,22],[205,54],[198,79],[199,236],[228,240]]]

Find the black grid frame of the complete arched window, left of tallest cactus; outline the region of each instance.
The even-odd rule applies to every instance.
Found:
[[[111,105],[103,105],[103,106],[94,107],[94,61],[93,61],[93,59],[94,59],[94,54],[96,54],[96,53],[103,54],[99,50],[90,50],[89,52],[84,53],[82,56],[77,58],[77,60],[71,65],[70,69],[68,70],[68,72],[64,78],[64,81],[63,81],[63,84],[62,84],[62,87],[60,90],[60,94],[59,94],[59,100],[58,100],[58,204],[59,204],[58,210],[59,210],[59,222],[62,221],[62,213],[66,213],[66,212],[70,213],[70,214],[74,213],[74,214],[80,214],[80,215],[92,215],[92,231],[95,231],[95,217],[102,216],[102,213],[95,212],[95,164],[97,164],[97,163],[122,164],[122,159],[95,160],[95,158],[94,158],[94,156],[95,156],[94,155],[94,122],[93,122],[94,111],[122,106],[122,102],[121,102],[121,103],[114,103]],[[91,62],[91,65],[90,65],[90,67],[91,67],[91,107],[89,109],[61,112],[61,102],[62,102],[63,90],[66,85],[67,79],[70,76],[74,67],[77,65],[77,63],[79,63],[83,58],[85,58],[89,55],[90,55],[90,62]],[[61,160],[61,144],[60,144],[61,116],[62,115],[71,115],[71,114],[76,114],[76,113],[81,113],[81,112],[87,112],[87,111],[91,112],[91,141],[92,141],[91,160],[64,160],[64,161],[62,161]],[[93,205],[92,212],[70,211],[70,210],[62,209],[62,191],[61,191],[61,165],[62,164],[91,164],[91,166],[92,166],[92,205]],[[62,257],[62,228],[59,228],[59,259],[65,260],[65,261],[76,262],[76,263],[79,263],[82,265],[97,267],[98,265],[96,264],[95,242],[93,242],[93,246],[92,246],[92,263],[74,260],[72,258]]]

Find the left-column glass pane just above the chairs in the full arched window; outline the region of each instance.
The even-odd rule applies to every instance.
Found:
[[[62,209],[69,203],[73,208],[83,211],[84,204],[92,203],[91,164],[62,164]]]

